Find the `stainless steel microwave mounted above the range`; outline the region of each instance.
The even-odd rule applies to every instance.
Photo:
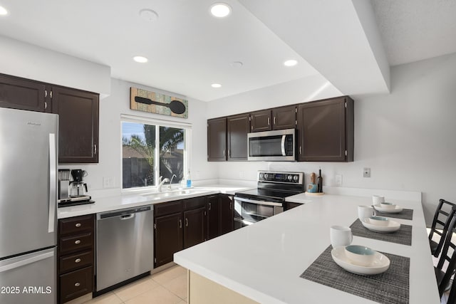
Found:
[[[296,160],[296,130],[275,130],[247,134],[247,159],[265,161]]]

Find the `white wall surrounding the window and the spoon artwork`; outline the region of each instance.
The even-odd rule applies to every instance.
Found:
[[[155,88],[148,88],[144,85],[128,83],[123,80],[112,78],[110,96],[100,100],[99,163],[72,165],[62,164],[59,168],[85,169],[88,172],[88,176],[85,178],[85,181],[88,183],[90,194],[95,197],[120,194],[120,189],[122,187],[122,136],[120,133],[120,115],[127,114],[151,117],[160,120],[175,120],[192,124],[190,159],[192,179],[217,179],[217,171],[212,170],[210,168],[211,164],[206,160],[207,103],[199,100],[188,100],[188,119],[130,110],[130,87],[132,86],[185,98],[184,96],[179,96],[176,93],[169,93]],[[115,184],[114,187],[103,188],[103,177],[113,178]]]

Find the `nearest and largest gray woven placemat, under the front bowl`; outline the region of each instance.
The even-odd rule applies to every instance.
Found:
[[[301,274],[301,278],[385,304],[408,303],[410,258],[383,253],[390,259],[390,268],[373,276],[349,273],[331,257],[332,246]]]

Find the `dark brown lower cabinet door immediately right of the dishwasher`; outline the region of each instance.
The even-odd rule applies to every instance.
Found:
[[[172,262],[172,255],[183,248],[182,212],[155,218],[154,241],[155,267]]]

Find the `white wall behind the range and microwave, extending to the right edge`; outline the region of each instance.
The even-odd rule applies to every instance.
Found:
[[[342,187],[422,192],[430,224],[438,199],[456,203],[455,80],[456,54],[451,54],[391,68],[392,92],[388,95],[352,96],[354,162],[222,162],[215,163],[219,178],[252,181],[259,169],[310,173],[321,166],[326,186],[332,186],[334,175],[341,174]],[[208,116],[269,108],[284,100],[296,103],[309,95],[305,84],[302,93],[283,88],[285,85],[217,100],[209,103]],[[265,103],[264,96],[271,92],[281,98]],[[371,168],[371,178],[363,177],[363,167]]]

